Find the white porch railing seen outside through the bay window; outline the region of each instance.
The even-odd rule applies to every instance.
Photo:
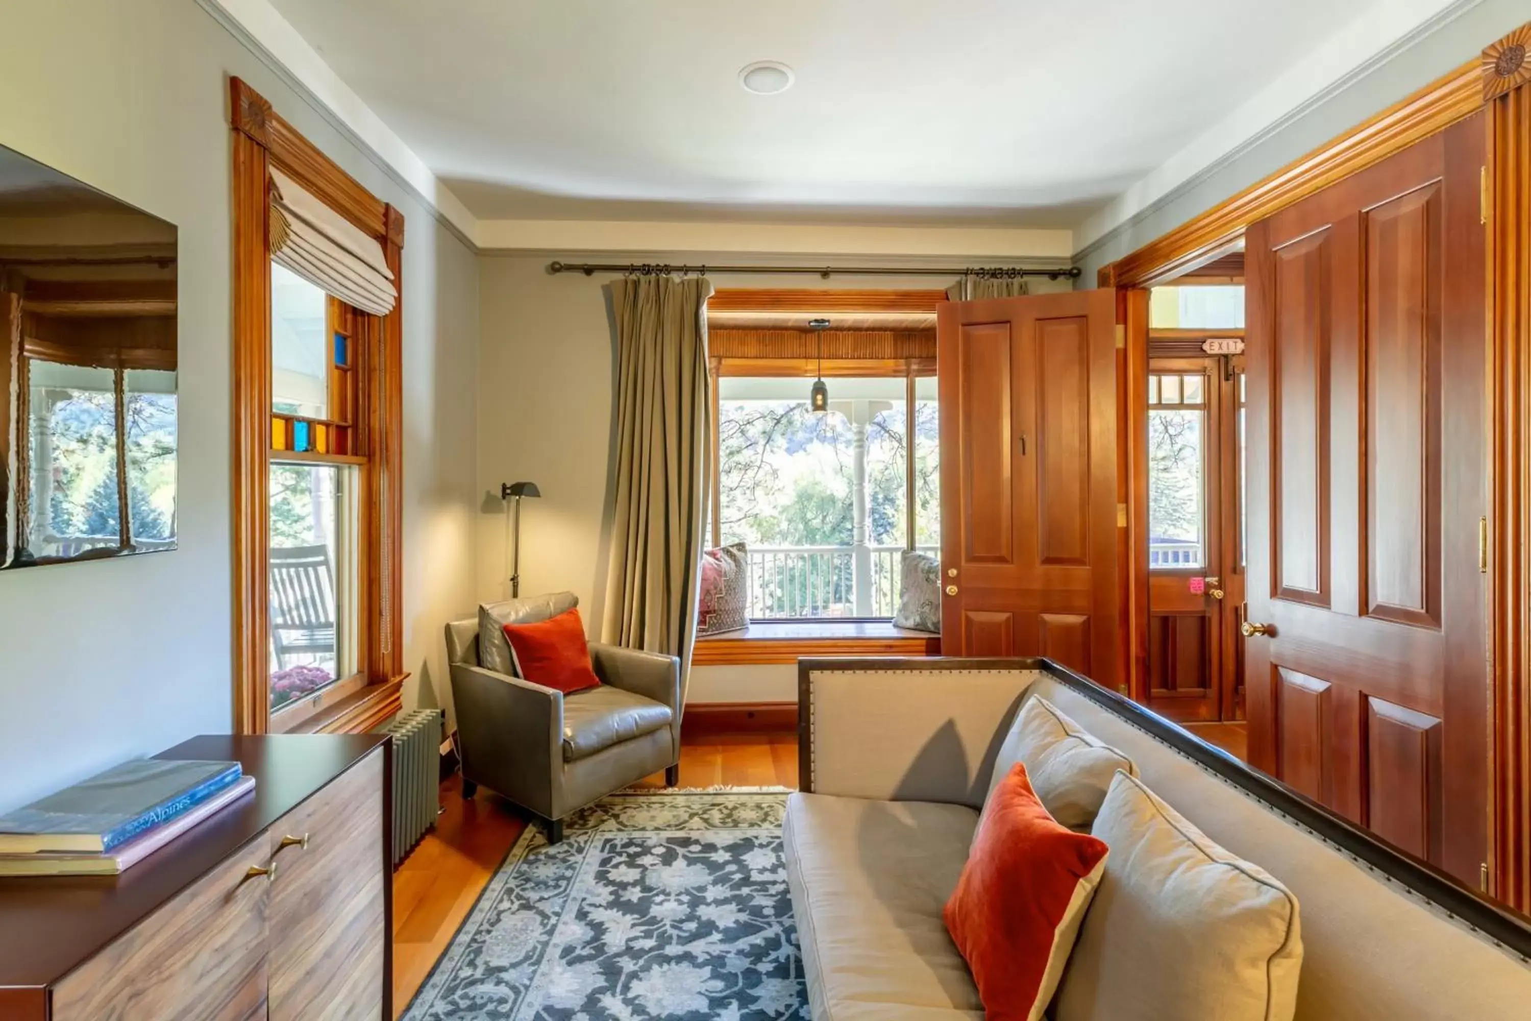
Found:
[[[935,554],[935,546],[919,546]],[[893,617],[903,546],[750,546],[750,618]]]

